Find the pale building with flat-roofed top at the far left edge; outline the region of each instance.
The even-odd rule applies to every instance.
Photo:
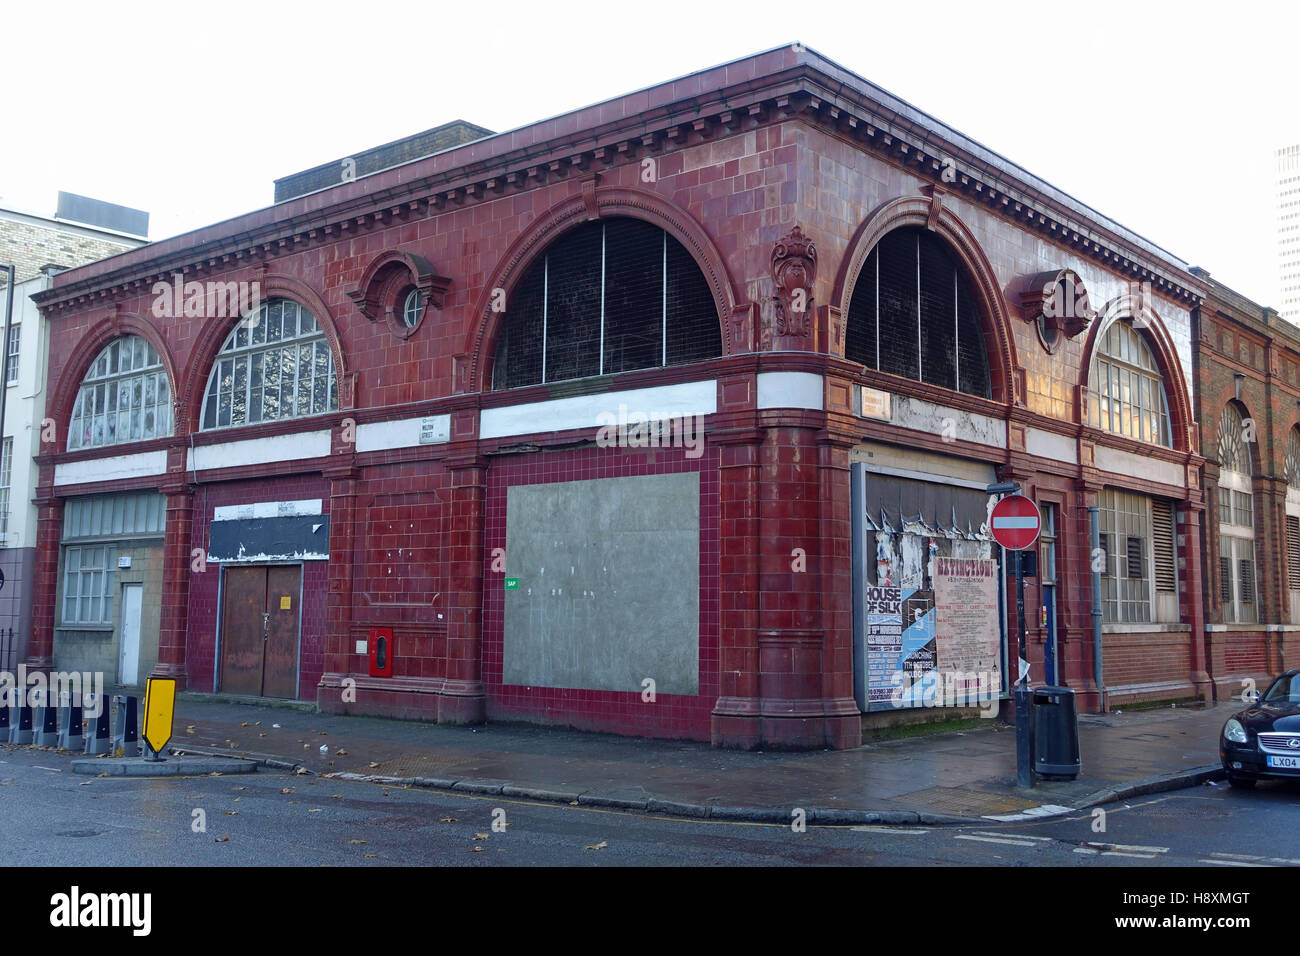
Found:
[[[125,213],[125,215],[124,215]],[[143,225],[142,220],[143,219]],[[16,272],[13,326],[5,351],[4,442],[0,446],[0,669],[13,671],[31,633],[36,542],[36,466],[46,416],[49,334],[31,297],[49,289],[61,269],[142,246],[148,216],[68,193],[53,216],[0,208],[0,263]],[[0,308],[8,294],[0,274]],[[3,321],[3,313],[0,313]]]

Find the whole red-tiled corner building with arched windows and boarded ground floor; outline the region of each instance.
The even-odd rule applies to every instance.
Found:
[[[1204,297],[802,47],[342,177],[40,297],[32,662],[68,588],[113,613],[73,502],[151,493],[156,672],[191,688],[853,747],[932,676],[1014,679],[1015,480],[1032,679],[1204,696]]]

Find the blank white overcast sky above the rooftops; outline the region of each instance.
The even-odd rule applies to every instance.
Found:
[[[508,130],[802,42],[1261,302],[1300,4],[35,3],[0,17],[0,202],[161,239],[455,118]]]

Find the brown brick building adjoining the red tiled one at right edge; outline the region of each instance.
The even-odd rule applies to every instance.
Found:
[[[1193,272],[1206,654],[1221,698],[1300,658],[1300,330]]]

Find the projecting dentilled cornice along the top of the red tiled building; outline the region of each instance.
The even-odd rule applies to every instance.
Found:
[[[759,70],[762,64],[775,66],[777,61],[781,66]],[[741,65],[754,69],[744,70]],[[712,90],[698,88],[710,77],[745,73],[751,75]],[[699,82],[686,82],[697,78]],[[686,95],[662,101],[666,90],[679,88]],[[1161,260],[1150,251],[1156,247],[1140,237],[1121,235],[1118,228],[1087,219],[1082,204],[1080,209],[1067,208],[1030,182],[1028,174],[1018,176],[1018,168],[996,163],[989,159],[994,155],[978,144],[966,150],[945,139],[942,124],[935,121],[941,129],[927,129],[915,118],[924,114],[907,108],[907,116],[901,111],[906,104],[883,101],[890,99],[806,48],[768,51],[73,269],[56,277],[53,289],[34,298],[51,316],[105,306],[147,293],[155,282],[170,282],[173,273],[185,280],[226,276],[390,224],[422,220],[546,182],[589,176],[593,169],[640,163],[684,146],[798,118],[941,183],[949,194],[984,206],[1113,272],[1149,281],[1154,294],[1188,308],[1204,300],[1205,287],[1173,256]],[[628,108],[655,100],[660,100],[659,105]],[[546,135],[572,125],[566,121],[584,113],[603,117],[606,108],[616,118]],[[512,148],[515,142],[524,144]],[[976,147],[984,155],[978,155]]]

